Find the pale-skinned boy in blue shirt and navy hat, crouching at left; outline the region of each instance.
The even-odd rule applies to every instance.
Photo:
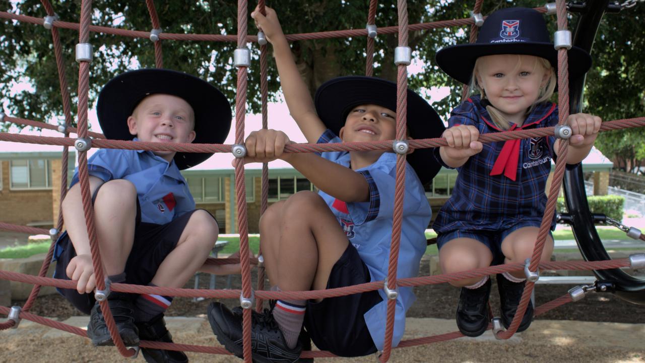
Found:
[[[97,102],[108,139],[157,143],[222,143],[231,107],[217,88],[188,74],[143,69],[110,80]],[[111,282],[183,287],[202,267],[219,227],[204,209],[195,209],[179,172],[212,154],[174,151],[98,150],[89,160],[94,223],[104,273]],[[113,345],[101,306],[90,294],[94,267],[86,230],[78,170],[63,201],[66,232],[57,240],[59,278],[77,289],[59,289],[89,313],[87,334],[95,346]],[[212,270],[212,268],[210,268]],[[217,272],[217,271],[210,271]],[[141,340],[172,342],[163,314],[172,297],[112,291],[108,304],[126,346]],[[187,362],[179,351],[143,348],[147,362]]]

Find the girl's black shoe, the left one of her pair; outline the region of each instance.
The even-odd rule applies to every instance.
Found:
[[[459,305],[457,306],[457,327],[463,335],[479,337],[488,328],[490,286],[489,278],[486,284],[477,287],[477,289],[461,288]]]

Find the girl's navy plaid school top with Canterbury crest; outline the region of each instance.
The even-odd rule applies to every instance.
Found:
[[[472,96],[453,109],[448,127],[473,125],[480,134],[501,132],[480,101],[479,95]],[[557,105],[543,102],[535,105],[522,126],[515,127],[515,130],[549,127],[557,122]],[[547,199],[544,189],[551,171],[551,159],[555,158],[554,141],[553,136],[521,140],[515,181],[504,173],[490,175],[505,142],[484,143],[484,149],[479,154],[471,156],[457,168],[459,175],[452,196],[437,214],[433,225],[435,231],[497,231],[521,221],[541,222]],[[444,167],[448,167],[441,160],[438,147],[434,156]]]

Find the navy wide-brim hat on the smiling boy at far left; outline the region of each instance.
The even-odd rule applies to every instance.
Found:
[[[210,83],[168,69],[140,69],[110,79],[99,93],[96,112],[106,138],[132,140],[128,117],[144,98],[170,94],[184,99],[195,113],[194,143],[223,143],[231,128],[231,105]],[[194,167],[210,158],[212,152],[177,152],[179,169]]]

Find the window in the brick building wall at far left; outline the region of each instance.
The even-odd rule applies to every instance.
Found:
[[[11,189],[52,187],[51,160],[10,160]]]

